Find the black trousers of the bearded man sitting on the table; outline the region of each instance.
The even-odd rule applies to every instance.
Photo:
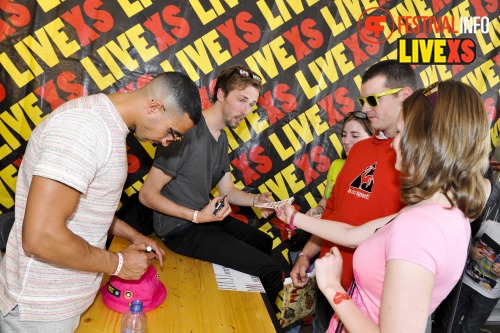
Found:
[[[221,222],[193,224],[162,240],[176,253],[259,277],[276,308],[283,289],[281,267],[271,257],[272,239],[264,232],[228,216]]]

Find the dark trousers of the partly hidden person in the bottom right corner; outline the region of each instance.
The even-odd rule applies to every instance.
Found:
[[[441,305],[442,312],[436,316],[435,320],[440,333],[445,333],[453,311],[455,295],[458,292],[458,286],[448,295]],[[498,298],[488,298],[468,285],[462,283],[462,290],[458,299],[455,318],[453,320],[452,332],[476,333],[484,325],[491,312],[495,308]],[[463,316],[461,328],[459,322]]]

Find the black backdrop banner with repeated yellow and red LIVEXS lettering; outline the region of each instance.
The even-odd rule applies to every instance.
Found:
[[[227,129],[234,183],[293,196],[302,211],[321,198],[342,119],[360,108],[361,76],[379,60],[412,63],[420,87],[450,78],[475,87],[492,152],[498,140],[498,1],[0,0],[0,32],[0,213],[13,210],[26,143],[47,114],[80,96],[133,91],[163,71],[189,75],[204,108],[222,68],[262,76],[257,107]],[[120,206],[141,189],[155,152],[133,134],[127,144]]]

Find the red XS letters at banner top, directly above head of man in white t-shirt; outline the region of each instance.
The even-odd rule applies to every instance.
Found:
[[[181,10],[176,6],[166,6],[162,12],[163,20],[174,27],[170,30],[170,33],[179,39],[189,35],[190,31],[189,23],[184,18],[176,16],[180,11]],[[144,22],[144,26],[155,35],[160,52],[165,51],[169,46],[177,43],[177,40],[163,28],[160,14],[155,13],[151,15],[151,17]]]

